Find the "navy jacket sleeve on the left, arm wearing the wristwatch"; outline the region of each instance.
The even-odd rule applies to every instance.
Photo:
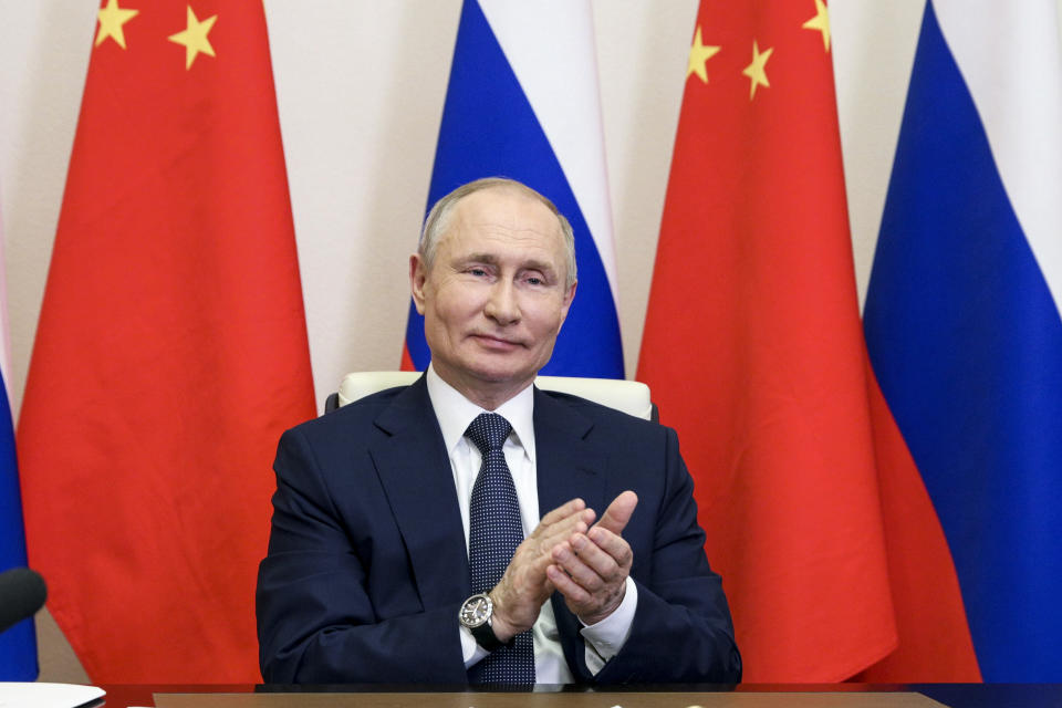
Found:
[[[392,607],[402,610],[386,617],[374,607],[367,549],[353,541],[298,428],[281,438],[274,470],[256,595],[266,681],[467,683],[457,605],[425,610],[415,596],[393,597]]]

